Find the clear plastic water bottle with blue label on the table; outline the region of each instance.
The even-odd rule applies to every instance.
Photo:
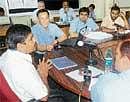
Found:
[[[113,68],[113,55],[112,49],[108,48],[105,52],[105,72],[112,71]]]

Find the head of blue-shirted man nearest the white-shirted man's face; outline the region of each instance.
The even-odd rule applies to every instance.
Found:
[[[39,20],[39,23],[44,26],[47,27],[49,24],[49,12],[45,9],[41,9],[37,12],[37,17]]]

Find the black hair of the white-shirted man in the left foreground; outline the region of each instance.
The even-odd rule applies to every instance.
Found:
[[[6,42],[9,49],[17,49],[17,44],[26,40],[31,28],[23,24],[15,24],[6,32]]]

